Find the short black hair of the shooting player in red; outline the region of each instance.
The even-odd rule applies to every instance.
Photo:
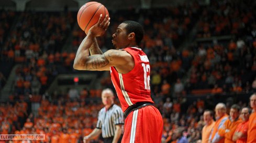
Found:
[[[142,25],[136,21],[130,21],[130,20],[124,21],[123,23],[127,24],[125,27],[127,34],[132,32],[135,33],[135,40],[136,40],[136,43],[139,45],[144,35]]]

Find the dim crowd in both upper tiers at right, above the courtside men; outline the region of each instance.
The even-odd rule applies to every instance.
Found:
[[[203,8],[197,23],[197,37],[232,35],[227,40],[212,38],[193,48],[192,68],[184,82],[193,89],[213,89],[213,94],[248,93],[255,90],[256,36],[254,1],[212,2]]]

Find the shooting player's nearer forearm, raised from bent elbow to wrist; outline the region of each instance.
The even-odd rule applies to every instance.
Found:
[[[74,69],[79,70],[81,67],[84,67],[88,56],[89,56],[89,48],[94,42],[94,37],[92,34],[88,33],[88,35],[84,38],[79,48],[76,51],[75,59],[74,59]]]

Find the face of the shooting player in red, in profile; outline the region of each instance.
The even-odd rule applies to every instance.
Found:
[[[125,29],[126,25],[126,23],[121,23],[112,35],[112,44],[116,49],[126,48],[129,45],[128,34]]]

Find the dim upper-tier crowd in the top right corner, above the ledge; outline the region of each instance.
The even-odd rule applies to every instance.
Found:
[[[197,37],[253,34],[254,8],[254,1],[211,1],[202,9]]]

